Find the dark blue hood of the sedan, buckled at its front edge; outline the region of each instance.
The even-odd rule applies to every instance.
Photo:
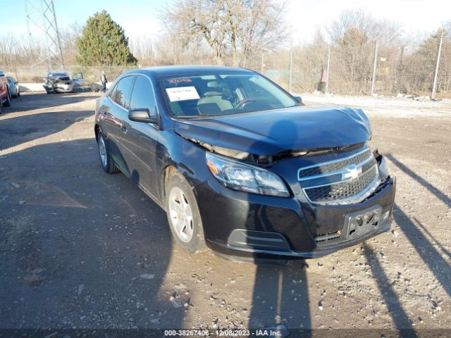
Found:
[[[323,106],[177,120],[175,132],[256,155],[350,146],[371,138],[369,120],[361,109]]]

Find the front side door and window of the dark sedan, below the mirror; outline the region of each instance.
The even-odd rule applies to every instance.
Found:
[[[130,98],[130,110],[149,109],[150,115],[157,115],[154,88],[149,78],[137,75]],[[158,174],[156,173],[156,142],[159,128],[152,123],[124,121],[127,136],[124,138],[125,161],[130,167],[132,179],[147,192],[157,194]]]

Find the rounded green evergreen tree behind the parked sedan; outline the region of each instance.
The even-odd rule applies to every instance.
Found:
[[[128,46],[123,28],[109,13],[95,13],[86,22],[82,36],[77,39],[82,65],[136,65],[137,59]]]

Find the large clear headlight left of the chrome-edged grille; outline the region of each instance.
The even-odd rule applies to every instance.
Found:
[[[254,194],[288,197],[285,184],[268,170],[206,153],[206,165],[226,187]]]

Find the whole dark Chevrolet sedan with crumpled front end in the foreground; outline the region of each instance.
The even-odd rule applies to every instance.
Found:
[[[390,229],[395,177],[364,112],[304,106],[252,70],[123,73],[94,131],[104,171],[159,204],[190,252],[316,257]]]

